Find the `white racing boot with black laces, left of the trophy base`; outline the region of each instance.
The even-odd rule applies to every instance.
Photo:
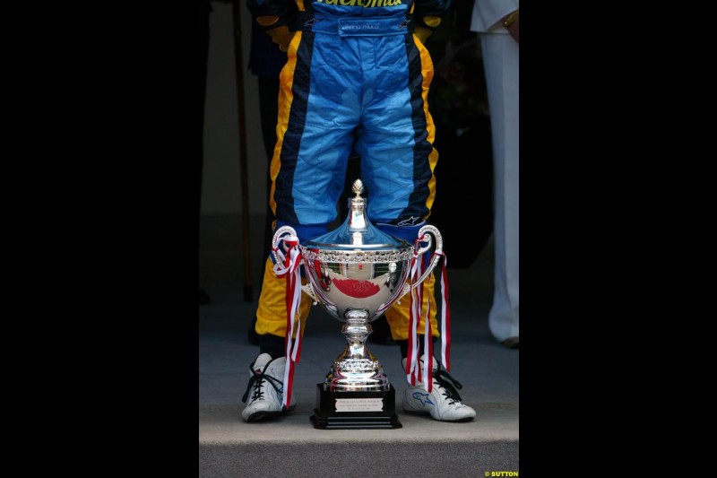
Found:
[[[249,402],[242,411],[241,417],[245,422],[257,422],[264,418],[270,418],[282,413],[293,412],[297,407],[296,400],[291,397],[288,409],[281,406],[284,398],[284,369],[286,369],[286,357],[272,359],[268,353],[262,353],[254,363],[249,366],[252,370],[249,385],[241,401]],[[251,393],[251,395],[249,395]]]

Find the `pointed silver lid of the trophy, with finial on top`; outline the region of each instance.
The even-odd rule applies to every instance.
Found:
[[[403,239],[394,238],[379,230],[368,221],[367,201],[361,197],[364,184],[356,179],[351,188],[356,195],[349,198],[349,216],[341,226],[311,239],[306,247],[325,250],[396,250],[412,249],[412,245]]]

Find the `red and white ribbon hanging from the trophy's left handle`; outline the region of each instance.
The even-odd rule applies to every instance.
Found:
[[[284,370],[284,394],[282,404],[289,407],[291,402],[292,384],[294,382],[294,363],[301,358],[301,321],[297,314],[301,305],[301,250],[298,248],[298,238],[289,236],[283,239],[289,247],[287,255],[280,248],[272,248],[277,258],[274,264],[274,274],[287,280],[286,286],[286,369]],[[296,337],[296,338],[293,338]]]

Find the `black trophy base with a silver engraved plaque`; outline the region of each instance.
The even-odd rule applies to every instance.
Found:
[[[311,415],[314,428],[322,430],[403,428],[396,415],[396,390],[384,392],[324,390],[316,384],[318,408]]]

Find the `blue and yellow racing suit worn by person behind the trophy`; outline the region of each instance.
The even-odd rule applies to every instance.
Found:
[[[384,232],[414,242],[434,202],[438,159],[428,112],[433,63],[420,39],[437,27],[450,4],[451,0],[247,0],[253,20],[288,56],[280,76],[277,143],[270,170],[270,205],[277,228],[291,226],[300,243],[328,231],[353,149],[361,158],[368,219]],[[424,284],[435,321],[433,282],[430,278]],[[258,334],[283,336],[284,291],[285,284],[267,260]],[[408,302],[403,300],[386,314],[395,339],[408,338]],[[300,313],[304,320],[307,300],[305,305]],[[398,317],[391,313],[394,309],[406,310]],[[399,327],[405,330],[395,327],[398,321],[405,322]],[[433,330],[437,335],[437,326]]]

